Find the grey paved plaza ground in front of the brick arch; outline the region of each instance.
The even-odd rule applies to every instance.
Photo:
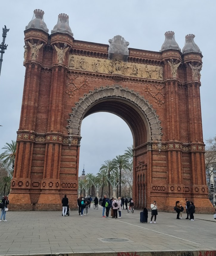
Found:
[[[213,215],[195,214],[195,221],[176,219],[176,213],[159,212],[156,224],[140,223],[140,211],[121,219],[102,218],[102,207],[87,216],[71,211],[7,212],[0,222],[0,255],[79,256],[215,256],[216,221]],[[103,243],[102,238],[129,242]]]

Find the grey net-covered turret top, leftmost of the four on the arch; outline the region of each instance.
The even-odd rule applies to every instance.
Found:
[[[40,9],[35,9],[33,17],[28,23],[28,26],[25,27],[25,30],[29,28],[39,28],[48,33],[49,29],[47,28],[46,23],[43,21],[43,14],[44,11]]]

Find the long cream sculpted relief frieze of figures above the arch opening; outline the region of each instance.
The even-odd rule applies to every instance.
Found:
[[[123,62],[118,59],[107,60],[69,55],[68,67],[73,70],[163,80],[163,68],[160,66]]]

